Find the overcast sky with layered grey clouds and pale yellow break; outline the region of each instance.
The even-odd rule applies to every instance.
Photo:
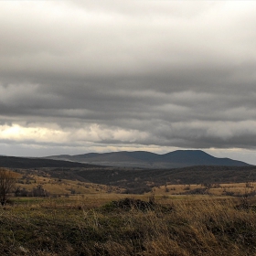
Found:
[[[256,165],[255,1],[0,1],[0,155],[202,149]]]

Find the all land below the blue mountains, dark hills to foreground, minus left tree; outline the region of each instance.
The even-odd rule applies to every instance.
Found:
[[[0,156],[17,174],[0,208],[0,253],[250,255],[256,166],[206,164],[145,168]]]

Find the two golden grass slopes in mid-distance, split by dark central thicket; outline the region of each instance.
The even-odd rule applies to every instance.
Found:
[[[235,196],[244,197],[246,195],[254,196],[256,194],[256,184],[254,182],[240,183],[217,183],[217,184],[168,184],[165,186],[154,187],[154,184],[147,183],[157,196],[169,197],[172,195],[210,195],[210,196]],[[37,187],[43,189],[42,193],[48,196],[72,196],[72,195],[91,195],[91,194],[123,194],[125,189],[117,186],[104,184],[95,184],[70,179],[59,179],[52,176],[41,176],[37,173],[33,175],[21,175],[17,180],[16,187],[21,191],[27,191],[31,194],[39,193]],[[144,193],[149,195],[151,192]],[[33,193],[32,193],[33,194]],[[18,194],[17,194],[18,196]],[[23,193],[22,196],[26,196]],[[43,195],[31,195],[43,196]]]

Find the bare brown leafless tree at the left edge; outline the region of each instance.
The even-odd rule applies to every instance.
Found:
[[[9,169],[0,167],[0,203],[5,205],[8,194],[15,187],[18,174]]]

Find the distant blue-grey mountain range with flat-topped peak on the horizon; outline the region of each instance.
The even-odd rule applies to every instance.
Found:
[[[180,168],[194,165],[250,166],[241,161],[214,157],[201,150],[176,150],[165,155],[158,155],[146,151],[121,151],[102,154],[52,155],[47,158],[93,165],[143,168]]]

